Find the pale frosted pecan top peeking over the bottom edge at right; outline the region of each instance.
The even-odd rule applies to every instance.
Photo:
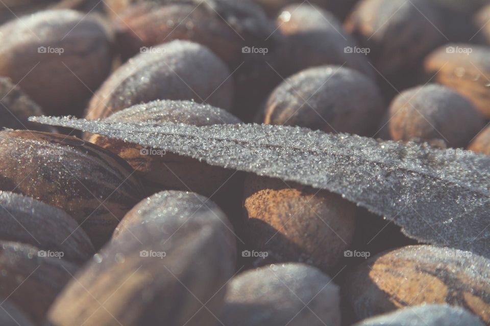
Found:
[[[354,326],[483,326],[475,315],[460,307],[425,305],[364,319]]]

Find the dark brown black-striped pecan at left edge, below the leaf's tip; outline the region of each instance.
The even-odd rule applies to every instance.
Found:
[[[0,131],[0,190],[58,207],[87,232],[95,248],[143,196],[131,167],[117,155],[66,135]]]

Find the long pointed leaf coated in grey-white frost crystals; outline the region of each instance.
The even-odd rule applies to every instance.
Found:
[[[386,216],[419,241],[490,257],[487,155],[289,126],[31,120],[327,189]]]

